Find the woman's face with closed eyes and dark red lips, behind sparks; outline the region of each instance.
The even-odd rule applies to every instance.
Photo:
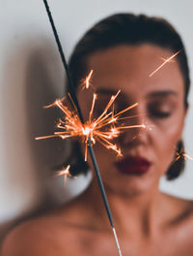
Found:
[[[117,111],[138,103],[127,112],[137,116],[125,119],[125,125],[147,126],[126,130],[120,136],[116,144],[121,146],[123,158],[101,144],[94,146],[105,187],[115,193],[133,195],[154,189],[174,160],[185,116],[184,84],[178,61],[173,59],[150,77],[164,58],[173,53],[147,44],[108,48],[88,58],[88,72],[94,70],[92,84],[98,95],[94,114],[99,115],[111,95],[121,89],[115,101]],[[91,89],[78,90],[85,119],[92,97]],[[93,169],[90,158],[88,162]]]

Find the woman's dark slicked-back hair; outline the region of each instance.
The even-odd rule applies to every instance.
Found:
[[[175,28],[165,19],[160,17],[149,16],[135,16],[132,14],[118,14],[114,16],[108,16],[94,25],[86,34],[81,38],[76,47],[74,48],[69,59],[69,72],[70,78],[77,86],[82,78],[88,73],[87,59],[97,50],[112,48],[119,45],[141,45],[152,44],[161,48],[170,49],[173,52],[181,50],[177,55],[179,62],[179,68],[184,80],[184,108],[187,108],[187,95],[190,86],[189,69],[187,63],[187,57],[183,43],[179,37]],[[69,90],[69,85],[67,87]],[[78,154],[76,165],[74,169],[80,171],[83,166],[83,158],[77,150],[77,144],[74,145]],[[182,143],[180,143],[181,150]],[[177,150],[177,152],[179,152]],[[74,151],[73,156],[74,158]],[[174,163],[166,173],[168,179],[174,179],[181,173],[184,160],[180,159]],[[84,165],[86,169],[86,165]],[[72,168],[73,169],[73,168]]]

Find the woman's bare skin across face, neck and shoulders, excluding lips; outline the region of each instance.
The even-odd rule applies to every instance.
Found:
[[[132,122],[145,121],[153,127],[152,130],[126,132],[118,142],[124,155],[140,155],[152,161],[150,171],[143,176],[121,174],[115,167],[114,153],[95,146],[122,252],[126,256],[193,255],[192,201],[158,190],[159,178],[174,159],[186,114],[183,79],[177,62],[168,63],[149,78],[160,63],[159,56],[166,58],[171,54],[170,50],[151,45],[119,46],[93,53],[88,59],[88,70],[95,71],[93,84],[101,96],[101,105],[108,101],[110,91],[121,88],[118,105],[139,102],[132,112],[139,117]],[[88,103],[80,90],[78,97],[86,117]],[[88,94],[87,99],[91,101],[92,95]],[[139,136],[132,140],[136,134]],[[92,166],[91,159],[88,162]],[[68,205],[14,229],[3,244],[1,255],[118,255],[95,176],[89,188]]]

